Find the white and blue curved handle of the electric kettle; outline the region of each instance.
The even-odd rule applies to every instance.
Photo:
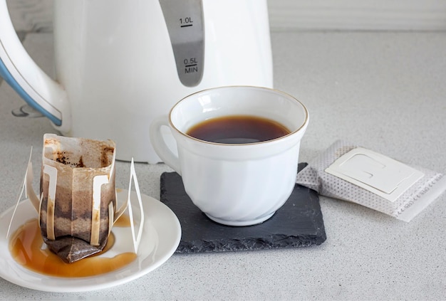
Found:
[[[66,91],[26,52],[14,30],[6,0],[0,0],[0,75],[28,105],[48,117],[57,130],[70,130]]]

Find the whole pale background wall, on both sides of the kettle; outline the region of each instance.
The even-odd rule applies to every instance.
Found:
[[[17,31],[52,30],[53,0],[7,1]],[[446,30],[446,0],[268,0],[268,5],[271,31]]]

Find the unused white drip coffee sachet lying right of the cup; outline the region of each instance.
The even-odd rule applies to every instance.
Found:
[[[296,177],[322,196],[410,221],[446,190],[446,177],[338,140]]]

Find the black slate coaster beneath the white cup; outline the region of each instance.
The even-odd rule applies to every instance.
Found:
[[[176,172],[163,173],[160,181],[160,199],[177,215],[182,227],[176,253],[305,247],[326,240],[318,194],[304,186],[296,184],[284,206],[264,223],[235,227],[207,218],[187,196]]]

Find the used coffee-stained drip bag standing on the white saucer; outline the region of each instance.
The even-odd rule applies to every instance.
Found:
[[[45,134],[39,223],[67,263],[105,247],[116,211],[115,142]]]

